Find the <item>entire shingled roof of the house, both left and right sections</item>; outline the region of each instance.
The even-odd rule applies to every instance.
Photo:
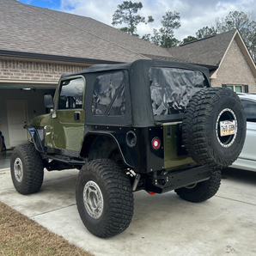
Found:
[[[0,0],[0,50],[132,62],[161,58],[216,67],[235,30],[164,49],[92,18]]]

